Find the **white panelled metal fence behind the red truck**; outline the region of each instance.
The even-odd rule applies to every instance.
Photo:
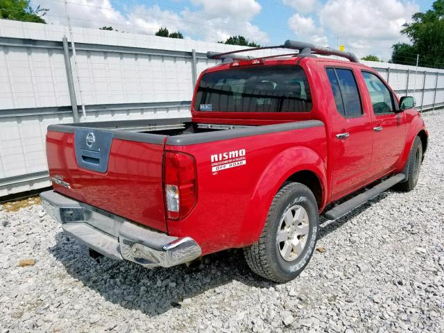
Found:
[[[217,63],[206,52],[238,47],[99,29],[73,28],[73,33],[78,77],[73,70],[72,82],[80,121],[85,121],[80,101],[87,121],[189,117],[196,76]],[[65,26],[0,20],[0,197],[50,185],[46,127],[73,121],[65,35]],[[444,105],[444,70],[364,63],[398,94],[415,96],[421,110]]]

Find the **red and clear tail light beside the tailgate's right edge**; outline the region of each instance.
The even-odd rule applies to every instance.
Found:
[[[165,153],[164,190],[167,218],[180,220],[193,210],[197,201],[196,162],[185,153]]]

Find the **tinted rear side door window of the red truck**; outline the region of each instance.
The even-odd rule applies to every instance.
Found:
[[[338,112],[347,118],[361,117],[361,98],[352,70],[327,68],[326,71]]]

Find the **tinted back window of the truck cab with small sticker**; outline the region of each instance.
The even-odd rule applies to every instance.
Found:
[[[205,112],[309,112],[311,93],[299,66],[244,67],[202,76],[194,110]]]

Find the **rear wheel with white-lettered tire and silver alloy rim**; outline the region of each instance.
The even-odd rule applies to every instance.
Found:
[[[246,262],[268,280],[293,280],[309,263],[318,230],[313,193],[298,182],[285,185],[273,198],[259,241],[244,248]]]

